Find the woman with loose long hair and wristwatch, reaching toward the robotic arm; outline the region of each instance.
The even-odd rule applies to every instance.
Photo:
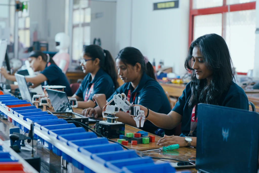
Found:
[[[244,90],[233,82],[234,70],[225,40],[208,34],[192,42],[185,68],[191,69],[191,82],[169,114],[161,114],[141,106],[146,118],[158,127],[173,129],[182,123],[180,136],[164,136],[157,145],[179,144],[196,147],[197,104],[249,109]],[[217,118],[217,117],[215,117]],[[213,120],[211,120],[213,123]],[[192,135],[190,131],[193,131]],[[193,136],[193,137],[188,137]]]

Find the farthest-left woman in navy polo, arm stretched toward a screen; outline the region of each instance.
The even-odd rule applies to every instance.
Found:
[[[28,61],[30,62],[30,67],[34,72],[41,71],[35,77],[25,78],[27,82],[31,82],[33,84],[33,88],[39,85],[66,86],[66,88],[64,88],[64,92],[66,92],[68,96],[72,96],[71,88],[66,75],[48,54],[41,51],[32,51]],[[1,73],[5,79],[16,81],[15,76],[8,74],[4,68],[1,68]]]

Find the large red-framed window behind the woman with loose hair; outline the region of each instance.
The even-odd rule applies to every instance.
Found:
[[[190,0],[189,44],[204,34],[221,35],[237,72],[253,69],[255,0]],[[243,63],[243,59],[247,63]]]

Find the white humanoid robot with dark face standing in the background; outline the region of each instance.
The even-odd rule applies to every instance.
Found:
[[[63,73],[66,73],[69,66],[69,36],[64,32],[57,33],[55,41],[56,49],[58,49],[59,52],[54,55],[53,60]]]

